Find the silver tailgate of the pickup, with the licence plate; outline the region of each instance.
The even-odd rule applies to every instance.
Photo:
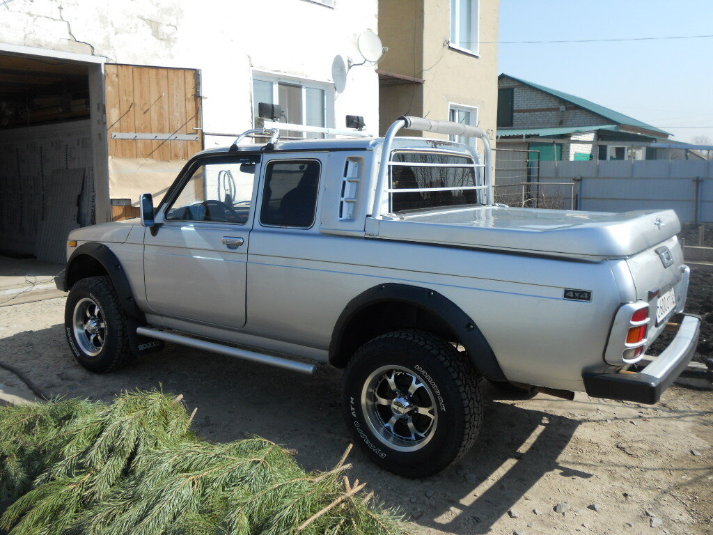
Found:
[[[656,340],[664,329],[667,319],[685,305],[688,287],[687,273],[683,264],[683,250],[674,236],[648,248],[627,260],[636,287],[637,299],[649,303],[649,343]],[[671,307],[670,290],[673,290],[675,306]],[[662,315],[657,321],[657,306]],[[669,310],[670,309],[670,310]],[[663,312],[668,311],[666,314]]]

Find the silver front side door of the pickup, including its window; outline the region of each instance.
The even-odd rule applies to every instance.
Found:
[[[247,248],[260,156],[207,155],[191,165],[144,238],[154,312],[225,327],[245,325]]]

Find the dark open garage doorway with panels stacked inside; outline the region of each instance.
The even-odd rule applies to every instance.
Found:
[[[0,278],[54,270],[30,264],[62,263],[67,233],[96,223],[90,76],[99,68],[0,53]]]

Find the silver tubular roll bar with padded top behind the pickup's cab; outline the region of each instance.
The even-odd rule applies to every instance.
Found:
[[[371,210],[371,217],[381,219],[381,204],[384,202],[384,194],[393,190],[386,188],[389,181],[389,169],[392,165],[399,162],[391,161],[391,146],[394,143],[396,133],[401,128],[411,128],[412,130],[420,130],[423,132],[443,133],[451,136],[466,136],[468,138],[481,138],[483,146],[485,146],[484,162],[480,163],[480,158],[474,147],[466,145],[466,149],[473,157],[474,165],[463,165],[463,167],[483,168],[483,182],[481,186],[467,186],[460,189],[485,189],[486,202],[488,205],[493,204],[493,149],[490,146],[488,135],[482,128],[477,126],[468,126],[453,121],[432,121],[422,117],[399,117],[394,121],[389,130],[384,136],[384,144],[381,146],[381,163],[379,164],[379,178],[376,181],[376,192],[374,195],[374,207]],[[461,167],[461,165],[458,165]],[[445,188],[428,188],[428,190],[441,190]],[[452,188],[451,188],[452,189]]]

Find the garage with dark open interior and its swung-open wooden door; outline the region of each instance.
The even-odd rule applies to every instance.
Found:
[[[136,217],[202,148],[200,71],[33,51],[0,50],[0,305],[53,293],[73,228]]]

